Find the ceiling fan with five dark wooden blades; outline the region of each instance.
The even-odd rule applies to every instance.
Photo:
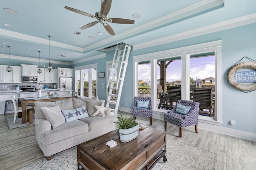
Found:
[[[76,12],[76,13],[84,15],[84,16],[95,18],[95,19],[98,20],[98,21],[88,23],[88,24],[82,26],[80,29],[86,29],[86,28],[92,27],[96,23],[102,23],[104,28],[106,29],[106,31],[108,31],[108,33],[110,33],[110,35],[115,35],[115,32],[112,29],[112,27],[110,27],[110,25],[108,25],[105,21],[112,22],[112,23],[121,23],[121,24],[133,24],[134,20],[128,20],[128,19],[122,19],[122,18],[110,18],[110,19],[108,19],[108,12],[110,11],[111,2],[112,2],[112,0],[104,0],[102,2],[100,12],[96,12],[95,16],[93,16],[91,14],[88,14],[86,12],[80,11],[80,10],[76,10],[74,8],[70,8],[68,6],[65,6],[65,8],[67,10]]]

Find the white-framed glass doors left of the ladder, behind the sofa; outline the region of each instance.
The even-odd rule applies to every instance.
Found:
[[[97,96],[97,66],[91,64],[77,67],[76,70],[76,91],[80,97],[92,98]]]

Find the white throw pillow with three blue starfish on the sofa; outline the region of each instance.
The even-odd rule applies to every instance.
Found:
[[[78,107],[76,109],[62,110],[66,122],[82,119],[84,117],[89,117],[84,106]]]

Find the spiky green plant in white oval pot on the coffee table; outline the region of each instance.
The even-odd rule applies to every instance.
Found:
[[[116,118],[118,121],[114,121],[114,123],[118,128],[117,132],[121,142],[127,143],[138,137],[139,124],[134,122],[133,117],[127,118],[126,116],[118,115]]]

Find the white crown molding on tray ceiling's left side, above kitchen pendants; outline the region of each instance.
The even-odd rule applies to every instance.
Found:
[[[9,38],[9,39],[18,40],[18,41],[22,41],[22,42],[30,42],[30,43],[33,42],[33,43],[36,43],[36,44],[49,45],[49,39],[34,37],[34,36],[31,36],[31,35],[10,31],[10,30],[7,30],[7,29],[0,28],[0,35],[3,38],[6,37],[6,38]],[[70,49],[70,50],[78,51],[78,52],[83,52],[83,49],[81,47],[76,47],[76,46],[73,46],[73,45],[59,43],[59,42],[52,41],[52,40],[51,40],[51,46],[60,47],[60,48],[64,48],[64,49]]]

